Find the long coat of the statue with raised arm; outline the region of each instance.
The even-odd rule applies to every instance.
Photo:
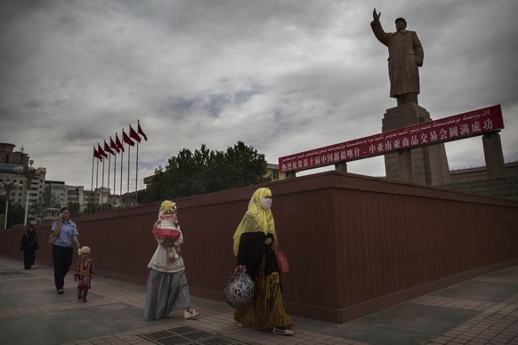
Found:
[[[417,34],[410,30],[386,33],[379,20],[373,20],[370,27],[377,40],[389,49],[388,68],[391,81],[391,97],[406,93],[419,93],[419,69],[425,57],[423,46]],[[417,61],[421,64],[417,66]]]

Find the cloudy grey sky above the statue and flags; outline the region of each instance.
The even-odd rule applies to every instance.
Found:
[[[137,120],[139,180],[202,143],[242,140],[277,164],[376,134],[396,102],[374,7],[385,31],[402,16],[424,46],[419,104],[434,120],[501,104],[516,161],[515,0],[4,0],[0,142],[23,146],[47,180],[89,188],[93,145]],[[446,149],[450,168],[484,164],[481,137]],[[348,166],[384,175],[382,157]]]

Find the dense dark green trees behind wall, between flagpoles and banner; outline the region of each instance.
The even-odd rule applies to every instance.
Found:
[[[264,155],[242,141],[226,152],[210,150],[205,144],[194,152],[183,148],[165,167],[155,170],[142,200],[151,203],[254,185],[269,181],[265,173]]]

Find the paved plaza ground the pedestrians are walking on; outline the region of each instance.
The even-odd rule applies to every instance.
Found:
[[[189,277],[189,272],[187,272]],[[223,287],[222,287],[223,288]],[[53,269],[0,257],[0,334],[4,344],[516,344],[518,266],[449,286],[343,325],[293,317],[295,335],[239,327],[220,301],[193,297],[197,320],[180,311],[143,317],[146,287],[94,277],[86,303],[73,275],[65,293]]]

